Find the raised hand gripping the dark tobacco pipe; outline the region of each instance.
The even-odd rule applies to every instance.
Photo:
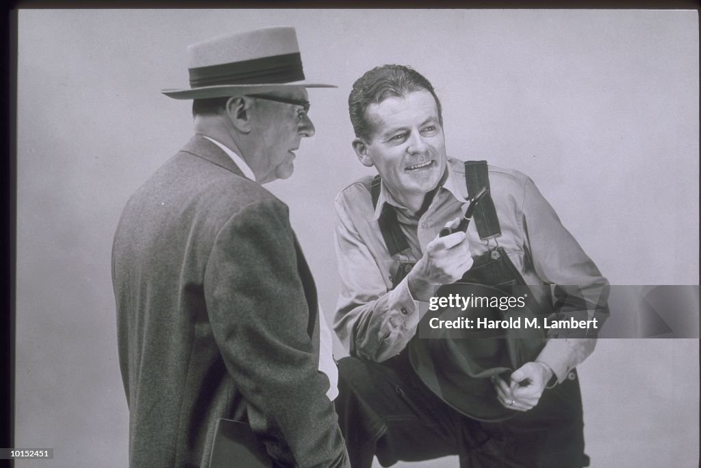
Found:
[[[455,229],[461,218],[446,224]],[[407,275],[409,291],[416,300],[428,301],[438,286],[454,283],[472,267],[470,244],[464,232],[436,236]]]

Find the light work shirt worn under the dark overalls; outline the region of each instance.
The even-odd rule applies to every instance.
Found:
[[[371,182],[372,177],[366,176],[336,196],[336,256],[342,284],[334,330],[351,356],[381,362],[406,347],[428,310],[428,302],[414,300],[406,278],[392,288],[393,275],[401,263],[418,261],[447,222],[463,216],[468,195],[463,161],[457,159],[448,160],[447,175],[420,217],[397,203],[384,182],[373,208]],[[500,246],[526,284],[552,285],[536,288],[541,295],[554,290],[554,285],[574,285],[575,294],[586,304],[597,305],[597,316],[605,319],[608,281],[562,226],[533,181],[518,171],[489,166],[489,183],[502,234],[479,239],[472,222],[465,237],[472,258]],[[409,248],[393,256],[378,226],[384,203],[395,208],[409,243]],[[557,304],[557,297],[539,300]],[[587,319],[594,312],[587,309],[573,315]],[[567,330],[557,331],[558,337],[548,337],[536,361],[550,366],[557,382],[562,382],[591,354],[596,339],[567,337]]]

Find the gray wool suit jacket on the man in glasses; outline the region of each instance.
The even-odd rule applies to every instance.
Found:
[[[207,466],[219,417],[283,466],[347,466],[287,206],[217,145],[196,135],[132,195],[112,279],[132,467]]]

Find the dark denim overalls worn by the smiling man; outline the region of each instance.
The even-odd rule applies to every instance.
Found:
[[[380,183],[379,176],[372,182],[374,205]],[[486,161],[465,162],[465,183],[469,196],[481,187],[489,188]],[[491,197],[479,202],[474,222],[481,239],[501,235]],[[383,206],[379,227],[390,255],[409,246],[395,210],[388,204]],[[413,266],[414,262],[399,265],[393,287]],[[525,285],[501,247],[475,258],[461,281]],[[543,339],[528,345],[528,361],[535,359],[544,343]],[[410,347],[411,342],[407,349]],[[484,422],[458,412],[424,385],[409,362],[407,349],[383,363],[353,357],[339,362],[336,410],[354,468],[371,467],[374,455],[382,466],[445,455],[458,455],[461,467],[472,468],[588,466],[576,371],[562,384],[546,389],[535,408],[524,413],[512,411],[506,420]]]

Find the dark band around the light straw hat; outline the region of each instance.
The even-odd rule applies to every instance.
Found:
[[[299,52],[191,68],[189,72],[191,88],[218,84],[289,83],[304,80]]]

